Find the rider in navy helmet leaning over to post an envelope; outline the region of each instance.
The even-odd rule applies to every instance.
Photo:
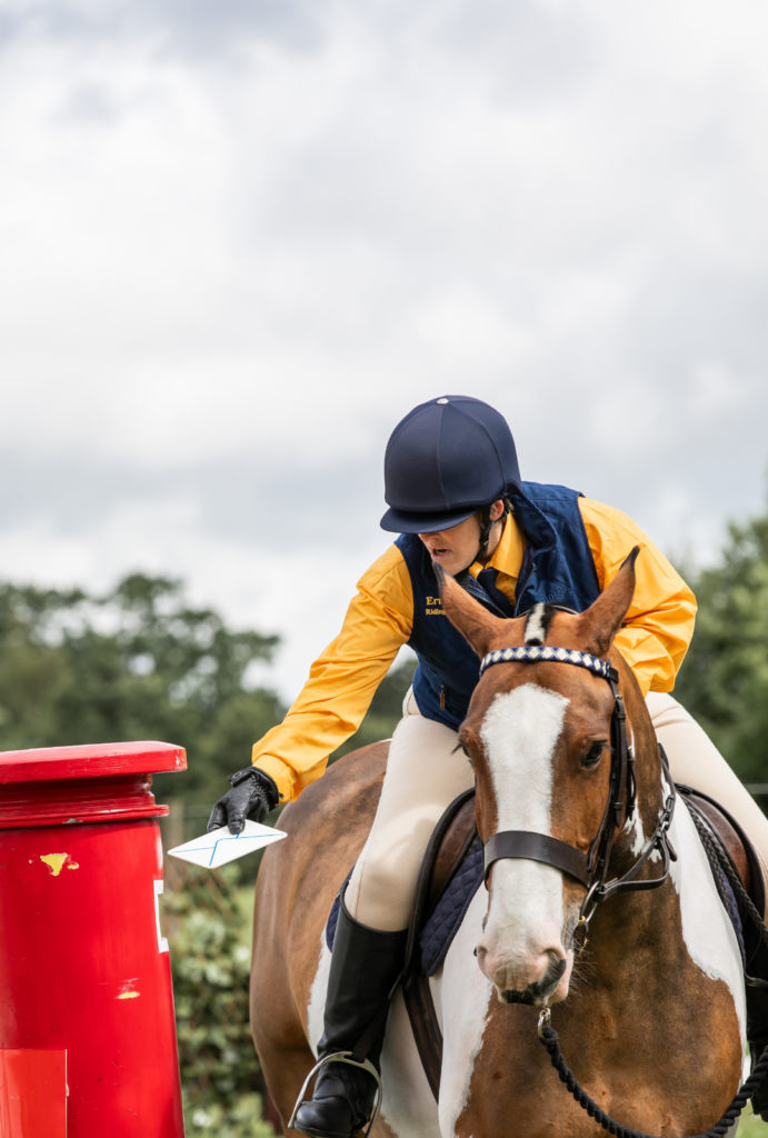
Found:
[[[368,1057],[377,1067],[424,850],[445,808],[473,782],[456,732],[478,659],[441,612],[435,562],[497,616],[521,615],[539,601],[583,611],[639,545],[635,595],[614,644],[646,698],[676,782],[730,811],[768,880],[768,819],[669,695],[693,635],[693,593],[626,514],[563,486],[521,481],[506,421],[466,396],[430,399],[398,423],[385,457],[385,497],[390,509],[381,526],[400,536],[358,582],[340,634],[283,723],[254,747],[254,765],[230,777],[232,790],[208,826],[229,823],[238,833],[246,817],[262,822],[278,801],[292,801],[320,778],[328,756],[360,726],[399,648],[414,649],[419,667],[373,827],[340,905],[319,1046],[321,1058],[352,1050],[369,1029]],[[365,1071],[328,1064],[296,1129],[348,1138],[368,1122],[374,1091]]]

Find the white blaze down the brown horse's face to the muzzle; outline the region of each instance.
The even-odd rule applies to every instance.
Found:
[[[535,684],[496,696],[480,736],[493,782],[498,831],[548,834],[553,756],[568,700]],[[564,958],[562,875],[525,858],[496,861],[478,962],[501,991],[523,991]],[[565,991],[567,975],[563,978]],[[559,995],[563,995],[559,990]]]

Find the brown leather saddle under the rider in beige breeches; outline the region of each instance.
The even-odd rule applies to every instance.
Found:
[[[704,817],[712,836],[759,913],[765,912],[762,873],[757,852],[738,823],[715,799],[677,784],[688,808]],[[711,863],[710,863],[711,865]],[[736,932],[743,962],[760,947],[759,934],[741,910],[727,879],[715,865],[712,875]],[[443,1066],[443,1033],[429,986],[451,947],[472,897],[482,883],[482,843],[474,820],[474,791],[460,794],[438,823],[424,853],[408,930],[403,992],[419,1055],[437,1100]]]

